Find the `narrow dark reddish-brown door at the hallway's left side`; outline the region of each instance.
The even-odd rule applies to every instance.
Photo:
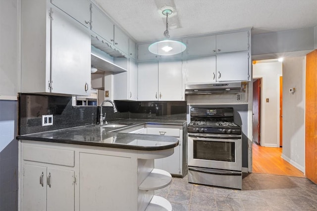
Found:
[[[261,120],[261,79],[253,82],[253,113],[252,113],[252,141],[261,145],[260,120]]]

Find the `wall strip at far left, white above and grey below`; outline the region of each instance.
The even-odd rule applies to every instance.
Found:
[[[0,210],[17,210],[21,0],[0,0]]]

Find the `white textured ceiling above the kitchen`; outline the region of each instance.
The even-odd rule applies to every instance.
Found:
[[[317,0],[95,0],[136,42],[251,28],[253,34],[317,26]]]

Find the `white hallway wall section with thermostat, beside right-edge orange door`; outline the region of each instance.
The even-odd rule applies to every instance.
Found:
[[[282,158],[305,172],[305,73],[306,57],[283,61]],[[295,93],[289,88],[295,87]]]

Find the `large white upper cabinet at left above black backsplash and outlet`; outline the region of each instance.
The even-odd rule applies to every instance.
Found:
[[[22,2],[21,91],[89,96],[89,29],[50,5]]]

